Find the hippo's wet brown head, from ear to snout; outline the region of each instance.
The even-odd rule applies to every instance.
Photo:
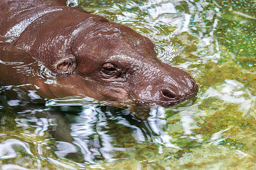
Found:
[[[161,62],[149,39],[121,24],[80,32],[71,53],[55,64],[57,72],[80,76],[89,86],[87,96],[117,107],[143,103],[168,108],[197,91],[191,76]]]

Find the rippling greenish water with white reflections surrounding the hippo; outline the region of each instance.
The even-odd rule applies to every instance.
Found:
[[[199,94],[141,121],[93,100],[44,106],[2,88],[2,169],[256,169],[255,0],[80,5],[149,37],[163,62],[195,78]]]

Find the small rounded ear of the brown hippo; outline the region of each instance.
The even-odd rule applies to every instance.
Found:
[[[67,58],[63,58],[60,61],[57,61],[53,65],[53,68],[59,74],[73,74],[76,70],[76,67],[76,58],[72,55],[68,56]]]

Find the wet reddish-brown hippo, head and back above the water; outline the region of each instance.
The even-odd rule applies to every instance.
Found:
[[[191,76],[124,25],[60,0],[1,0],[0,11],[0,86],[32,84],[47,99],[89,96],[133,109],[196,94]]]

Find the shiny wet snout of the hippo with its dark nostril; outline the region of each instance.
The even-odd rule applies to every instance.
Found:
[[[168,69],[170,70],[170,68]],[[138,102],[170,108],[196,94],[197,84],[185,71],[175,68],[168,73],[162,71],[162,74],[164,75],[151,80],[147,86],[145,83],[136,83],[137,90],[131,93],[138,99]]]

